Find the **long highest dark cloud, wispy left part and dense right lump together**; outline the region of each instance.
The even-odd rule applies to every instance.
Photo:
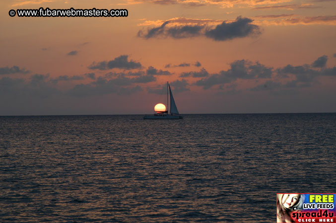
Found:
[[[226,41],[261,34],[259,26],[252,24],[252,22],[252,19],[239,16],[235,21],[223,21],[212,28],[207,25],[175,25],[170,27],[168,24],[172,21],[166,21],[159,27],[147,29],[146,33],[140,30],[137,36],[144,39],[160,37],[182,39],[202,35],[215,41]]]

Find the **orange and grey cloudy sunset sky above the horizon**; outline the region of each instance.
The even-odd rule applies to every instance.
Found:
[[[128,17],[10,17],[10,9]],[[336,112],[336,0],[1,0],[0,115]]]

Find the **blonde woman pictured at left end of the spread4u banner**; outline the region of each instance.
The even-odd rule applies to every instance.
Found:
[[[304,194],[277,194],[276,197],[276,222],[295,222],[291,218],[293,212],[302,210]]]

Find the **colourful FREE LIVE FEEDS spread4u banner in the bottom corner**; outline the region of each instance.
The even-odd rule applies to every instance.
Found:
[[[276,194],[277,223],[336,223],[336,194]]]

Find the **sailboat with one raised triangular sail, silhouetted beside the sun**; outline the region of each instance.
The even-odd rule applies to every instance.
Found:
[[[170,112],[168,113],[168,89],[170,94]],[[170,85],[167,82],[167,111],[157,112],[153,115],[145,115],[143,119],[183,119],[183,116],[180,115],[177,110],[172,90],[170,89]]]

